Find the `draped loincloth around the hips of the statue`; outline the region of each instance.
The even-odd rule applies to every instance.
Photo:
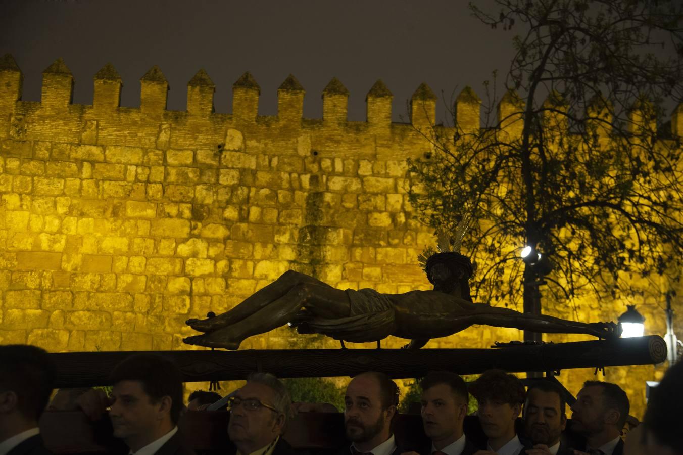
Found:
[[[386,294],[374,289],[347,289],[348,318],[307,318],[306,333],[322,333],[335,340],[365,343],[382,340],[396,329],[394,307]]]

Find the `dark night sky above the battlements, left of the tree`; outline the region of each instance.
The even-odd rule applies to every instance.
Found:
[[[471,17],[465,0],[0,0],[0,55],[23,70],[24,100],[40,100],[42,71],[63,57],[78,104],[92,103],[92,77],[109,61],[123,106],[139,105],[139,79],[157,64],[173,110],[185,109],[187,81],[205,68],[216,111],[230,112],[232,83],[248,70],[260,113],[274,115],[291,72],[307,90],[307,118],[320,118],[320,94],[336,76],[350,91],[349,120],[365,120],[365,94],[383,79],[398,121],[423,81],[439,97],[464,85],[482,96],[494,68],[507,72],[510,38]],[[443,103],[437,111],[443,118]]]

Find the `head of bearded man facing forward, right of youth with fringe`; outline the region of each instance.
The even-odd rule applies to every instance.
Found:
[[[531,385],[522,415],[525,436],[533,443],[527,455],[573,455],[560,441],[567,426],[566,402],[555,383],[539,381]]]

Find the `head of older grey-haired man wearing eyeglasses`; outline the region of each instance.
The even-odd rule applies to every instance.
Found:
[[[227,434],[237,455],[292,455],[292,446],[282,439],[290,418],[292,400],[273,374],[252,373],[247,384],[229,398]]]

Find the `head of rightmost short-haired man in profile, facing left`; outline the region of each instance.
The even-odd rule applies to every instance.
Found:
[[[626,392],[616,384],[586,381],[572,405],[572,430],[585,436],[584,453],[622,455],[621,434],[628,417]]]

